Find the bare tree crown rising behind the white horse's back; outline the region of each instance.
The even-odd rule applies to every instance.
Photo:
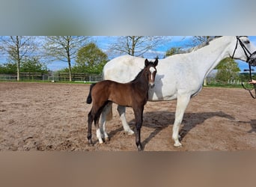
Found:
[[[120,54],[141,56],[150,49],[167,42],[168,37],[124,36],[119,37],[110,50]]]

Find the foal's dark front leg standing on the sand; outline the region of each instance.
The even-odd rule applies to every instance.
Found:
[[[138,150],[143,150],[141,145],[141,126],[143,122],[144,105],[141,108],[133,108],[135,114],[135,142]]]

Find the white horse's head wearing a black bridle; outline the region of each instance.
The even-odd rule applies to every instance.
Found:
[[[250,58],[255,59],[255,55],[252,55],[255,51],[256,47],[249,40],[249,37],[232,37],[231,47],[229,50],[231,58],[248,62]]]

